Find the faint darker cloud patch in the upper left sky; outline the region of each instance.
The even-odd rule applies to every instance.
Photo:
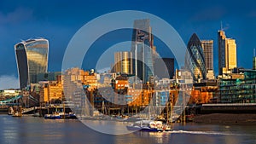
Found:
[[[0,24],[15,24],[32,19],[32,9],[17,8],[12,12],[4,14],[0,11]]]

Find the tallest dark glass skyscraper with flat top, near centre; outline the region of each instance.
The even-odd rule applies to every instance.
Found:
[[[133,74],[146,84],[154,77],[153,35],[148,19],[135,20],[131,37],[131,52],[133,56]]]

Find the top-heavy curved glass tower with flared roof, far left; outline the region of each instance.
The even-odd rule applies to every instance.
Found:
[[[37,74],[46,73],[48,67],[49,42],[34,38],[15,44],[20,89],[38,83]]]

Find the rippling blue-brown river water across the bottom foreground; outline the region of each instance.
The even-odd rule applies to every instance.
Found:
[[[14,118],[0,115],[0,143],[255,144],[256,125],[188,123],[174,124],[171,132],[108,135],[91,130],[77,119]]]

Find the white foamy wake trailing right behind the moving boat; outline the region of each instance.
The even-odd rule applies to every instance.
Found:
[[[172,134],[192,134],[192,135],[242,135],[242,134],[230,134],[216,131],[187,131],[187,130],[172,130],[168,131]]]

